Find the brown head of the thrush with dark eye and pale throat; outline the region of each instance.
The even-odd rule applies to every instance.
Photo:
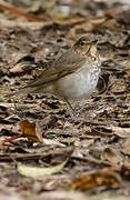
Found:
[[[97,40],[93,37],[81,37],[72,47],[74,52],[80,56],[96,56],[97,54]]]

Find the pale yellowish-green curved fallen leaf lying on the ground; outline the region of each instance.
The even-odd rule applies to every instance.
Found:
[[[42,176],[49,176],[53,173],[58,173],[59,171],[62,170],[62,168],[66,166],[68,162],[68,159],[64,160],[62,163],[50,167],[50,168],[37,168],[37,167],[29,167],[24,164],[18,164],[18,171],[20,174],[24,177],[30,177],[30,178],[39,178]]]

